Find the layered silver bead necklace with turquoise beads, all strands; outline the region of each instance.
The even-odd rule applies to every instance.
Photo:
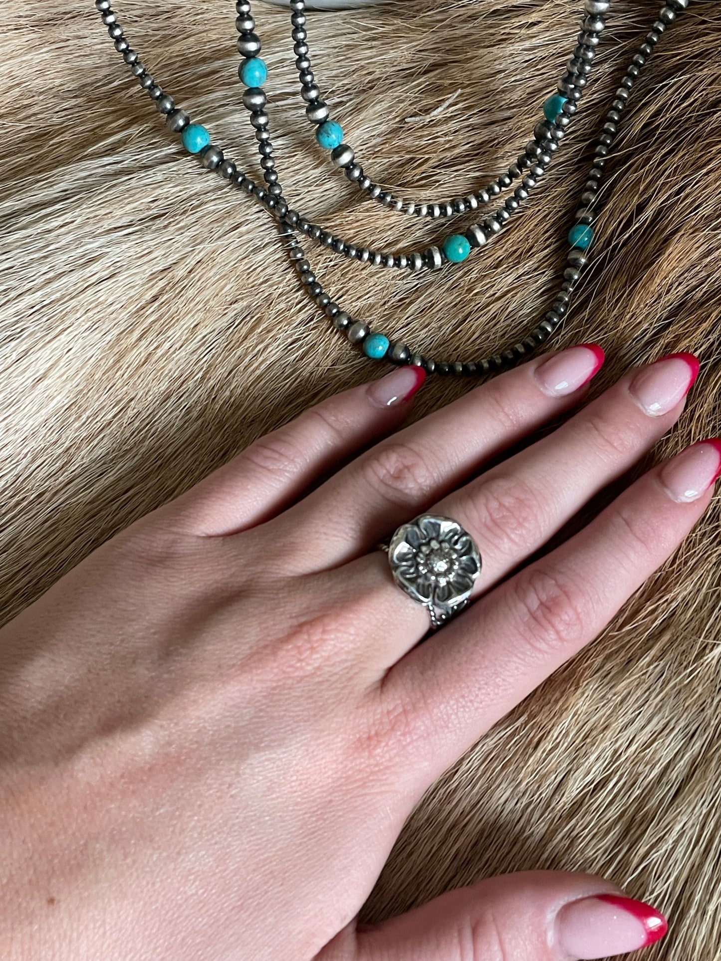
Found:
[[[391,339],[389,333],[373,331],[365,321],[351,316],[336,304],[319,282],[301,247],[299,235],[305,234],[311,241],[334,251],[339,257],[359,260],[361,263],[381,268],[395,267],[398,270],[453,270],[459,269],[456,265],[469,256],[482,256],[483,250],[477,248],[497,242],[497,234],[502,234],[511,217],[523,208],[535,186],[551,166],[560,142],[579,109],[596,50],[606,27],[609,0],[585,0],[581,32],[576,46],[566,63],[556,92],[543,104],[543,116],[535,125],[533,137],[526,144],[523,153],[510,163],[506,173],[502,173],[490,184],[465,197],[453,197],[440,203],[397,197],[390,190],[375,183],[365,172],[356,159],[353,147],[346,141],[340,124],[332,119],[331,109],[315,82],[306,32],[305,0],[289,0],[291,37],[300,94],[315,140],[321,150],[328,152],[331,162],[341,168],[348,180],[367,198],[396,213],[430,217],[433,220],[467,217],[469,213],[479,218],[462,233],[447,230],[442,240],[425,250],[403,252],[372,250],[354,243],[353,240],[332,234],[288,204],[273,158],[270,121],[265,110],[267,97],[264,85],[268,71],[261,59],[261,37],[256,30],[250,0],[236,2],[237,50],[241,57],[238,77],[244,86],[242,103],[248,111],[248,119],[258,142],[262,185],[240,170],[236,163],[212,142],[206,126],[191,121],[186,111],[176,106],[173,97],[156,81],[140,61],[137,51],[131,47],[115,12],[112,11],[111,0],[95,0],[95,7],[108,28],[115,50],[128,64],[139,85],[155,101],[158,111],[166,118],[168,128],[180,136],[186,151],[195,155],[204,168],[217,172],[226,181],[255,197],[274,215],[288,258],[301,283],[305,285],[317,307],[330,319],[336,331],[356,345],[365,357],[393,364],[415,364],[423,367],[429,374],[465,377],[488,375],[514,366],[548,340],[563,320],[587,263],[589,247],[594,240],[592,225],[599,213],[599,191],[604,170],[631,90],[661,36],[677,16],[684,12],[688,2],[689,0],[666,0],[613,94],[609,111],[603,118],[601,133],[593,148],[593,160],[582,188],[581,202],[568,234],[567,262],[551,307],[523,340],[510,344],[492,357],[476,360],[437,360],[427,357],[417,353],[410,345]],[[497,202],[496,198],[504,192],[508,192],[509,196],[503,202]]]

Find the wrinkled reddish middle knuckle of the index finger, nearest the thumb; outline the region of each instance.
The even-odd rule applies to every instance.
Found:
[[[546,656],[584,641],[588,601],[579,586],[558,571],[526,568],[515,580],[523,640]]]

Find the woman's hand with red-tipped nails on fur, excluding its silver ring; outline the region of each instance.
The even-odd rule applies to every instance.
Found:
[[[602,357],[538,357],[305,493],[399,426],[422,375],[332,398],[0,631],[5,961],[567,961],[662,935],[653,909],[564,872],[354,920],[422,792],[709,504],[718,441],[538,555],[668,431],[698,369],[679,355],[634,370],[504,459],[578,406]],[[374,545],[427,509],[460,521],[484,566],[470,609],[417,646],[428,613]]]

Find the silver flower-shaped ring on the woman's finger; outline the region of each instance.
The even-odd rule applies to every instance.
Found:
[[[393,579],[428,610],[431,630],[447,624],[467,606],[481,573],[481,553],[458,521],[420,514],[395,531],[387,546]]]

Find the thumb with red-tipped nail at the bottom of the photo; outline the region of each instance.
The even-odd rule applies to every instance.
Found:
[[[355,951],[341,953],[353,961],[577,961],[645,948],[666,927],[657,910],[602,878],[529,871],[450,891],[384,924],[359,925]],[[335,961],[328,949],[320,957]]]

